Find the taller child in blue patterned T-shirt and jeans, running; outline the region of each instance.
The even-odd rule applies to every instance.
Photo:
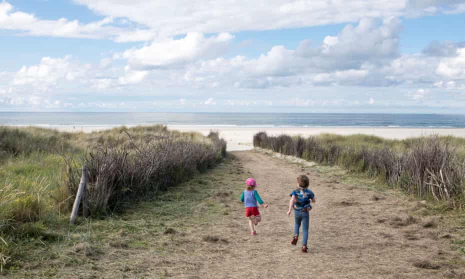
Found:
[[[312,191],[308,188],[308,177],[306,175],[299,175],[297,177],[297,188],[290,193],[289,210],[287,216],[290,215],[291,208],[294,209],[294,237],[290,243],[297,244],[298,231],[300,224],[302,224],[302,252],[307,252],[308,240],[308,222],[310,218],[309,211],[311,210],[311,202],[315,203],[316,198]]]

